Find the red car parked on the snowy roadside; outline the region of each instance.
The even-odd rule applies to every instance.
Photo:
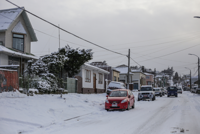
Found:
[[[106,96],[105,109],[122,109],[129,110],[135,107],[135,97],[129,89],[116,89],[112,90]]]

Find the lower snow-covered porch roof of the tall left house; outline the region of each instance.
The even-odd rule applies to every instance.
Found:
[[[14,55],[14,56],[20,56],[22,58],[38,59],[38,57],[36,57],[36,56],[28,55],[28,54],[24,54],[24,53],[20,53],[20,52],[16,52],[16,51],[8,49],[8,48],[6,48],[6,47],[4,47],[2,45],[0,45],[0,53],[6,53],[6,54]]]

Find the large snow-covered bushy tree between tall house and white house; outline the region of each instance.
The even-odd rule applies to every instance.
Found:
[[[79,72],[81,65],[92,59],[91,51],[65,46],[58,52],[41,56],[36,62],[29,60],[25,72],[30,76],[40,77],[37,83],[32,83],[37,85],[40,91],[56,91],[63,88],[61,70],[65,70],[69,77],[74,76]]]

